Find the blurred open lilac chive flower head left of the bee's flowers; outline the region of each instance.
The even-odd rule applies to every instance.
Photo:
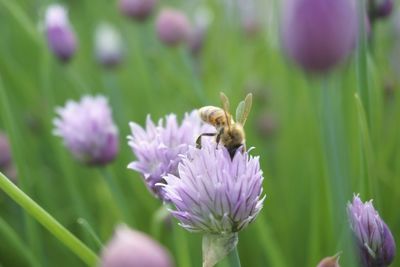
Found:
[[[79,161],[105,165],[118,152],[118,129],[104,96],[84,96],[80,102],[68,101],[57,108],[54,134]]]

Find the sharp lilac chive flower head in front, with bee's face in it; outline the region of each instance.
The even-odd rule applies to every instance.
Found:
[[[245,228],[260,212],[264,198],[259,158],[204,142],[191,147],[179,164],[179,177],[164,178],[172,214],[192,232],[230,234]]]

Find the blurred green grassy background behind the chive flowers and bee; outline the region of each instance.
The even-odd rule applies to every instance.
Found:
[[[363,112],[355,97],[360,53],[354,51],[329,75],[303,71],[282,49],[279,2],[164,0],[138,19],[121,12],[117,1],[59,1],[77,42],[69,60],[60,60],[46,38],[45,12],[53,2],[0,0],[0,130],[10,141],[13,162],[1,171],[95,251],[100,248],[78,218],[102,242],[124,221],[157,238],[177,266],[201,266],[200,235],[167,220],[154,236],[161,203],[140,174],[127,169],[135,159],[125,138],[128,123],[143,125],[147,114],[154,120],[169,113],[182,118],[204,105],[220,106],[220,91],[236,107],[252,92],[247,146],[260,156],[267,199],[258,219],[240,233],[242,266],[316,266],[338,251],[343,266],[351,266],[343,245],[343,201],[353,193],[374,199],[398,239],[400,11],[370,25],[364,81],[371,98]],[[186,42],[169,45],[160,37],[157,16],[166,7],[187,16]],[[96,29],[104,23],[121,42],[112,64],[96,50]],[[197,40],[194,29],[201,33]],[[328,113],[324,86],[335,96]],[[128,200],[131,220],[123,219],[100,171],[75,161],[52,134],[55,108],[85,94],[103,94],[112,106],[120,153],[107,169]],[[332,142],[326,142],[327,131],[333,133],[328,139],[336,137]],[[2,192],[0,239],[3,267],[84,266]]]

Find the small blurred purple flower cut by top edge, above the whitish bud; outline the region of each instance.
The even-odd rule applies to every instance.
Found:
[[[119,0],[119,10],[125,16],[143,21],[153,12],[157,0]]]

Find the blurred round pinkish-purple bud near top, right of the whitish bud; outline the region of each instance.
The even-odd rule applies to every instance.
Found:
[[[165,8],[158,15],[156,29],[161,42],[168,46],[176,46],[187,41],[191,26],[184,13]]]

